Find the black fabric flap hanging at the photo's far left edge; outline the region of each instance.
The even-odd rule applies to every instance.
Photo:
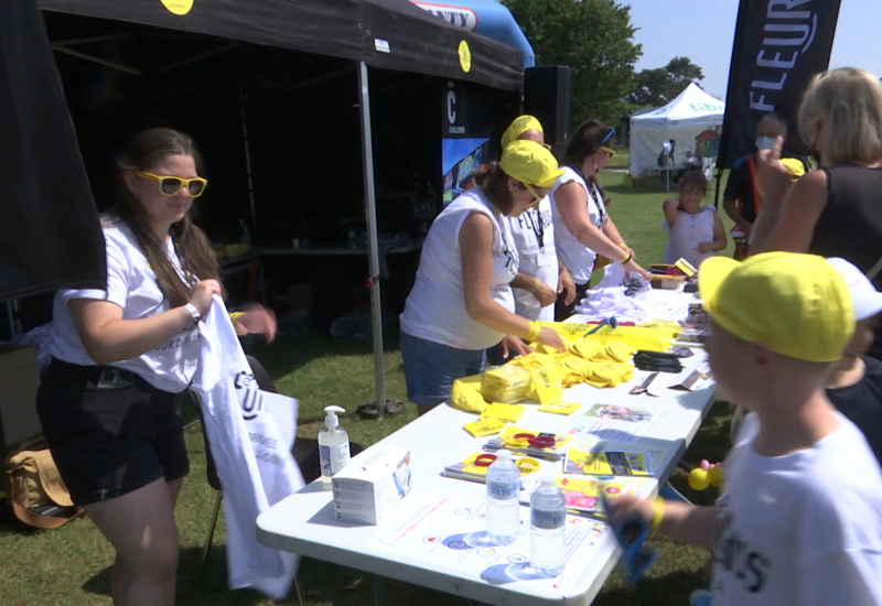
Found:
[[[0,299],[103,288],[104,238],[43,20],[0,3]]]

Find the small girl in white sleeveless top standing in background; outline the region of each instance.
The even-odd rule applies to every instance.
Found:
[[[668,234],[665,262],[686,259],[698,267],[708,257],[725,248],[723,221],[713,206],[701,206],[708,192],[708,180],[701,171],[689,171],[680,178],[679,198],[668,198],[662,204]]]

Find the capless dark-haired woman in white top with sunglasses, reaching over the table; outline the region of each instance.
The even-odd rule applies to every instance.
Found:
[[[606,213],[603,190],[596,174],[615,154],[615,130],[600,120],[589,120],[573,133],[563,159],[564,173],[549,197],[555,221],[558,258],[572,273],[576,299],[569,305],[558,300],[557,320],[572,315],[584,297],[598,255],[622,263],[625,273],[647,273],[634,260],[615,224]]]

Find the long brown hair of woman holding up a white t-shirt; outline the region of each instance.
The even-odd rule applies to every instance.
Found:
[[[110,215],[119,217],[135,235],[138,247],[147,257],[157,275],[157,284],[172,307],[190,300],[192,284],[185,284],[171,260],[164,245],[158,241],[147,227],[144,210],[135,194],[122,181],[123,171],[149,171],[158,161],[169,155],[190,155],[202,174],[202,154],[196,144],[183,132],[169,128],[153,128],[139,132],[129,139],[117,156],[117,199],[109,209]],[[208,238],[193,225],[190,214],[172,224],[169,230],[174,241],[181,267],[189,275],[198,280],[219,280],[220,271],[217,256],[212,250]]]

